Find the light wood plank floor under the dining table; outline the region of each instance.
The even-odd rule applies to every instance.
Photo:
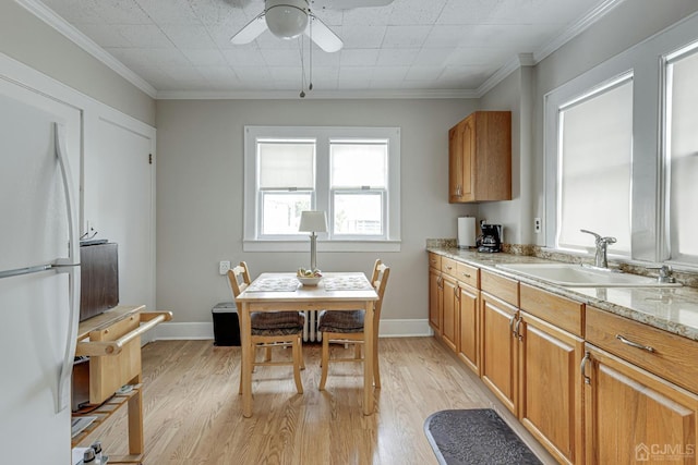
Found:
[[[245,419],[238,395],[240,347],[153,342],[143,347],[143,463],[436,464],[423,432],[432,413],[494,407],[510,423],[477,377],[433,338],[381,339],[380,351],[383,388],[375,393],[374,415],[361,413],[361,366],[330,365],[321,392],[320,345],[304,344],[304,393],[296,393],[291,368],[260,367],[253,376],[254,414]],[[550,462],[538,443],[521,436]],[[107,453],[128,453],[125,415],[116,414],[84,442],[97,438]]]

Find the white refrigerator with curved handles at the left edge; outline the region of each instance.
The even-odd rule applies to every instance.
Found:
[[[7,464],[71,461],[80,313],[79,178],[71,169],[80,170],[80,137],[75,109],[63,107],[0,78],[0,462]]]

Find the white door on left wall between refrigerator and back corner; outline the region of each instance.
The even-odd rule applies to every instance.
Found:
[[[105,117],[89,129],[85,220],[119,244],[119,302],[155,309],[154,135]]]

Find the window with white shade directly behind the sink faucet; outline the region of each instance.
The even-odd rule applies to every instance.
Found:
[[[586,229],[630,253],[633,78],[623,76],[558,110],[556,248],[586,249]],[[591,243],[593,244],[593,243]]]

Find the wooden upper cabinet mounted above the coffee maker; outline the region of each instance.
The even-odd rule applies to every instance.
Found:
[[[448,131],[448,201],[512,199],[512,112],[476,111]]]

